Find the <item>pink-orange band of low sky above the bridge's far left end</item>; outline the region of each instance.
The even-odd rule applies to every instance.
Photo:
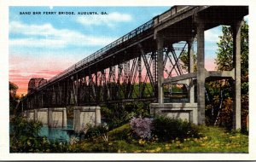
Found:
[[[9,81],[19,86],[17,95],[26,94],[30,78],[49,79],[73,64],[67,60],[60,61],[60,58],[57,61],[49,60],[50,58],[46,57],[37,59],[19,55],[9,56]]]

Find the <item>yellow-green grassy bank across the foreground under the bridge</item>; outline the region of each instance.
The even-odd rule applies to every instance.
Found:
[[[70,150],[87,153],[248,153],[248,136],[227,132],[218,127],[200,126],[202,137],[158,142],[135,139],[129,124],[108,132],[108,138],[98,136],[79,142]]]

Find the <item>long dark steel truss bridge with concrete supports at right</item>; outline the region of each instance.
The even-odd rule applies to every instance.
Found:
[[[234,128],[241,128],[241,24],[247,14],[247,6],[173,6],[54,78],[37,84],[31,79],[23,105],[27,111],[95,107],[99,118],[98,106],[106,103],[151,101],[154,115],[204,124],[206,80],[233,78]],[[233,70],[208,72],[204,32],[219,25],[231,26],[234,32]],[[181,54],[188,55],[187,72]],[[186,100],[171,100],[172,84],[185,88]]]

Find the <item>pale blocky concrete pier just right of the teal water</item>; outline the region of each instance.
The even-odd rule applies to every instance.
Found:
[[[73,128],[75,132],[84,129],[86,124],[92,126],[101,124],[101,107],[75,107]]]

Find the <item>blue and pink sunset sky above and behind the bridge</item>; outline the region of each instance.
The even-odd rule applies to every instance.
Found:
[[[9,7],[9,81],[26,94],[30,78],[54,77],[170,7]],[[205,32],[207,70],[220,34],[221,26]]]

